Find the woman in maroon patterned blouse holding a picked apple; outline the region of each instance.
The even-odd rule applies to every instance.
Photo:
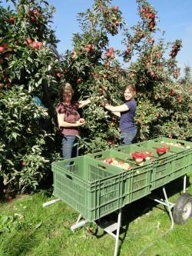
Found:
[[[58,103],[56,112],[58,117],[58,127],[63,137],[63,158],[68,159],[72,156],[74,142],[79,135],[79,128],[81,125],[84,125],[84,119],[80,118],[78,108],[88,105],[90,99],[85,101],[72,101],[74,91],[69,83],[66,83],[61,90],[63,100]]]

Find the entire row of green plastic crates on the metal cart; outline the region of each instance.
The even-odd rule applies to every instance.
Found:
[[[87,221],[94,221],[192,171],[192,148],[185,147],[192,143],[170,145],[169,151],[159,156],[156,148],[162,147],[162,140],[166,142],[158,138],[52,163],[55,196]],[[135,151],[151,151],[154,159],[135,165],[131,157]],[[109,165],[104,158],[127,162],[132,169]]]

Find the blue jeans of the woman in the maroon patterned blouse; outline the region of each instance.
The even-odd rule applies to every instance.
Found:
[[[64,159],[74,158],[78,156],[78,143],[74,142],[76,140],[76,136],[68,135],[62,138],[62,154]]]

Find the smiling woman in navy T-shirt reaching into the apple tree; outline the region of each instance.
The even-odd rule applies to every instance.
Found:
[[[134,125],[134,115],[137,103],[134,99],[136,89],[134,85],[127,85],[124,90],[125,102],[123,105],[111,106],[108,102],[101,103],[104,108],[120,117],[119,128],[121,130],[121,145],[129,145],[137,135],[137,127]]]

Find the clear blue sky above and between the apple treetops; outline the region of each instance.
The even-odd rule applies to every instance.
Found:
[[[51,26],[60,40],[58,52],[65,53],[67,49],[73,48],[71,42],[73,34],[80,32],[77,21],[78,12],[86,12],[87,8],[92,7],[94,0],[47,0],[47,2],[56,8]],[[192,1],[148,0],[148,2],[154,6],[160,18],[158,25],[165,32],[165,42],[174,42],[176,39],[181,39],[183,42],[183,48],[177,55],[181,71],[186,65],[192,67]],[[4,4],[5,0],[3,0]],[[111,5],[118,5],[129,27],[139,21],[136,0],[111,0]],[[157,38],[162,36],[157,35]],[[110,46],[124,48],[121,45],[121,39],[119,35],[111,37]]]

